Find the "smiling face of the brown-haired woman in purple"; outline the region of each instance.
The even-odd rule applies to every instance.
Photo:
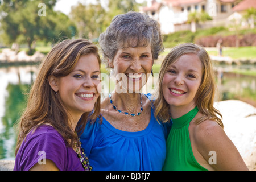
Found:
[[[97,57],[90,53],[79,58],[77,64],[64,77],[56,78],[55,91],[71,115],[81,115],[93,110],[100,93],[100,66]]]

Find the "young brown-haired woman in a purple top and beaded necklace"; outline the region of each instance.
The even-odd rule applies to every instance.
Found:
[[[76,132],[100,115],[100,66],[89,40],[64,40],[52,48],[20,118],[14,170],[92,169]]]

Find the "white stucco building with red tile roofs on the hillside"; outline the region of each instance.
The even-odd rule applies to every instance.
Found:
[[[186,24],[191,12],[207,12],[216,23],[225,23],[225,19],[233,13],[232,8],[239,0],[153,0],[148,2],[142,11],[158,20],[163,34],[179,30],[189,30]]]

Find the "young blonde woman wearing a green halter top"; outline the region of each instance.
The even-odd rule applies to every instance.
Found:
[[[204,48],[174,47],[161,65],[158,91],[155,117],[172,121],[163,170],[248,169],[213,106],[216,84]]]

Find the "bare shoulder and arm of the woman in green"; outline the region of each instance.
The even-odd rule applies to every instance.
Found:
[[[249,170],[236,146],[215,121],[208,120],[199,125],[196,133],[198,151],[210,166],[222,171]]]

